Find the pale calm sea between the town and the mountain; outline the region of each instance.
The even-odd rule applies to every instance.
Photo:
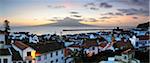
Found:
[[[33,26],[33,27],[11,27],[11,32],[30,32],[34,34],[78,34],[78,33],[88,33],[88,32],[98,32],[101,30],[86,30],[86,31],[63,31],[70,29],[114,29],[115,27],[103,26],[103,27],[67,27],[67,26]],[[121,28],[131,28],[131,27],[121,27]]]

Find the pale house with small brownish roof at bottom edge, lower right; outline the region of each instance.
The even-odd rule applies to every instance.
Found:
[[[108,57],[107,61],[100,61],[99,63],[140,63],[138,59],[134,58],[134,52],[128,49],[122,52],[120,55],[115,55],[114,57]]]

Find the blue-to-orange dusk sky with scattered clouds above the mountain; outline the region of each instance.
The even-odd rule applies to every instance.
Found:
[[[149,0],[0,0],[0,9],[0,26],[5,19],[11,26],[66,19],[72,24],[136,26],[149,19]]]

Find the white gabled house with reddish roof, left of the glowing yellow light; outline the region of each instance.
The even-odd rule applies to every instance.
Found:
[[[35,59],[35,50],[28,45],[22,43],[21,41],[15,41],[12,43],[12,47],[19,51],[20,56],[22,57],[23,61],[31,62],[33,59]]]

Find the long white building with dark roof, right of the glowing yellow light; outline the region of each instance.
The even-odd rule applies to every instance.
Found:
[[[33,48],[36,63],[64,63],[64,46],[58,42],[32,43],[28,44]]]

